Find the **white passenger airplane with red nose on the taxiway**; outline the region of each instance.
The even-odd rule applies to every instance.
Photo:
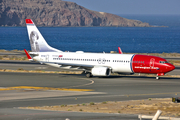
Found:
[[[82,70],[86,77],[110,76],[111,73],[147,73],[159,76],[175,69],[167,60],[150,55],[111,53],[63,52],[47,44],[31,19],[26,19],[31,51],[25,53],[30,61],[68,70]]]

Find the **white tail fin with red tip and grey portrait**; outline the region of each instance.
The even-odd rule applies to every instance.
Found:
[[[26,25],[32,52],[62,52],[47,44],[31,19],[26,19]]]

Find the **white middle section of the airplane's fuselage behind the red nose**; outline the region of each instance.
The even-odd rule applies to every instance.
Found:
[[[66,67],[75,65],[105,66],[111,68],[112,72],[133,73],[133,54],[109,54],[109,53],[84,53],[84,52],[39,52],[35,60],[52,65],[54,67]],[[62,67],[63,68],[63,67]]]

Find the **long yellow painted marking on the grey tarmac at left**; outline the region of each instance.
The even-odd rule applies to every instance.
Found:
[[[93,91],[92,89],[71,89],[71,88],[52,88],[52,87],[33,87],[33,86],[16,86],[16,87],[7,87],[0,88],[0,91],[7,90],[25,90],[25,89],[33,89],[33,90],[63,90],[63,91]]]

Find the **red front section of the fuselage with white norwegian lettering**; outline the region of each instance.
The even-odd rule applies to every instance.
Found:
[[[132,69],[135,73],[167,73],[175,69],[170,63],[160,63],[166,61],[163,58],[149,55],[135,55],[132,59]]]

